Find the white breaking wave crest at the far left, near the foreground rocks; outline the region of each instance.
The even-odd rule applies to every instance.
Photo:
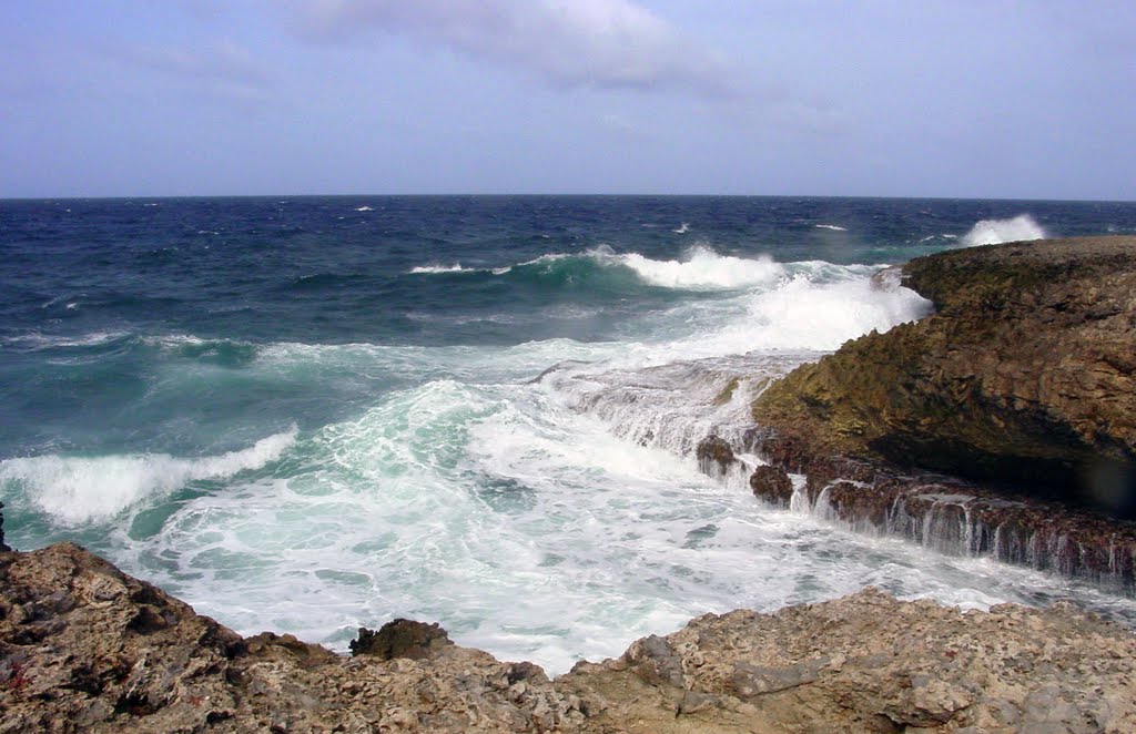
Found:
[[[257,441],[240,451],[195,459],[165,453],[106,457],[43,456],[0,462],[0,484],[12,483],[26,500],[58,523],[105,520],[153,495],[195,479],[223,479],[257,469],[295,443],[296,429]]]

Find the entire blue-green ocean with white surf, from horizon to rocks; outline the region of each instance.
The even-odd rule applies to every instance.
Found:
[[[1134,232],[1110,202],[0,201],[5,531],[243,634],[345,650],[410,617],[550,673],[868,584],[1136,624],[1109,589],[770,508],[693,457],[768,379],[930,312],[885,266]]]

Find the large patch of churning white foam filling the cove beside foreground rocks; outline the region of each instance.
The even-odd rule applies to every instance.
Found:
[[[612,437],[554,386],[448,379],[301,436],[119,554],[242,633],[343,649],[410,616],[550,673],[705,611],[866,584],[985,608],[1037,581],[771,510],[690,457]]]

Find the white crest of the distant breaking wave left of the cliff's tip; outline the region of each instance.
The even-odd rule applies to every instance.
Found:
[[[601,257],[629,267],[642,281],[660,287],[737,289],[768,285],[785,274],[772,258],[718,255],[707,247],[692,248],[685,260],[652,260],[637,252]]]

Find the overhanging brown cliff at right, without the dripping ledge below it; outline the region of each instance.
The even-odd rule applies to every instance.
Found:
[[[954,250],[903,282],[937,314],[800,367],[757,422],[811,454],[1136,511],[1136,237]]]

